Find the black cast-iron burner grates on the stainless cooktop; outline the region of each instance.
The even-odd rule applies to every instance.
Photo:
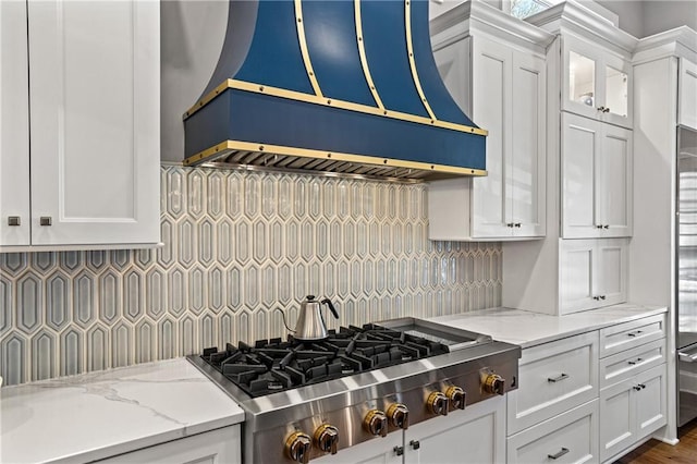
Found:
[[[227,343],[223,351],[205,349],[200,357],[249,395],[262,396],[448,352],[442,343],[367,323],[330,330],[317,342],[289,337],[254,346]]]

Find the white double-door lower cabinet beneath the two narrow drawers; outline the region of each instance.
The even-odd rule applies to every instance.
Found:
[[[665,364],[600,391],[600,460],[623,450],[665,425]]]

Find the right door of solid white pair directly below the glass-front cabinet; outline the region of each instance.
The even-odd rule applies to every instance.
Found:
[[[602,236],[632,235],[632,131],[603,124],[598,157]]]

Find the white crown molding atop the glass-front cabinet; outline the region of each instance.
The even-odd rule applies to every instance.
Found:
[[[627,58],[638,42],[636,37],[616,27],[612,21],[573,0],[528,16],[525,21],[553,34],[565,30],[582,34]]]

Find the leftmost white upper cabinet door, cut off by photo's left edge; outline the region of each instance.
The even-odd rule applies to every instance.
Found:
[[[26,3],[0,2],[0,246],[29,244]],[[10,225],[9,217],[20,225]]]

